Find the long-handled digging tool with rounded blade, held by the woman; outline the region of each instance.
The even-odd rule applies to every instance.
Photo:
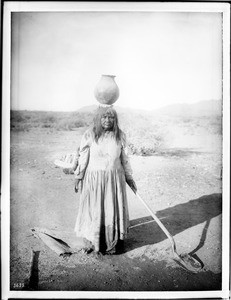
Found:
[[[166,236],[171,242],[172,245],[172,253],[173,257],[176,261],[178,261],[181,265],[183,265],[187,270],[197,273],[202,269],[202,265],[199,261],[197,261],[194,257],[191,255],[184,253],[184,254],[178,254],[176,251],[176,243],[171,236],[171,234],[168,232],[168,230],[165,228],[165,226],[161,223],[161,221],[157,218],[156,214],[151,210],[151,208],[148,206],[148,204],[140,197],[140,195],[136,192],[135,195],[138,197],[138,199],[146,206],[148,211],[150,212],[153,219],[156,221],[156,223],[160,226],[160,228],[164,231]]]

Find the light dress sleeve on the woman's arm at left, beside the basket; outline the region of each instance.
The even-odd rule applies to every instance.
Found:
[[[79,158],[78,158],[78,167],[75,170],[75,178],[83,179],[90,156],[90,145],[92,141],[92,134],[90,130],[87,130],[80,142],[79,147]]]

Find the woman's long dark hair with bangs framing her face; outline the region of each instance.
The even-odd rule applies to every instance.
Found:
[[[96,115],[94,117],[94,126],[93,126],[95,141],[98,142],[99,138],[104,134],[104,130],[101,125],[101,118],[105,114],[111,114],[114,117],[112,132],[114,133],[116,141],[119,142],[121,140],[121,130],[118,124],[118,115],[115,109],[111,106],[109,107],[100,106],[96,111]]]

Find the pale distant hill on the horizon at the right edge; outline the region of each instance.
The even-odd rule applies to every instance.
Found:
[[[221,100],[200,101],[193,104],[172,104],[153,111],[154,114],[169,116],[218,116],[222,112]]]

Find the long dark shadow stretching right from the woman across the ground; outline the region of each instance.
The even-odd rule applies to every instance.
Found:
[[[210,220],[220,215],[221,212],[222,195],[217,193],[158,211],[156,216],[173,236],[190,227],[206,222],[197,251],[204,244]],[[152,221],[151,216],[130,221],[131,228],[126,243],[126,251],[156,244],[166,239],[163,231]]]

